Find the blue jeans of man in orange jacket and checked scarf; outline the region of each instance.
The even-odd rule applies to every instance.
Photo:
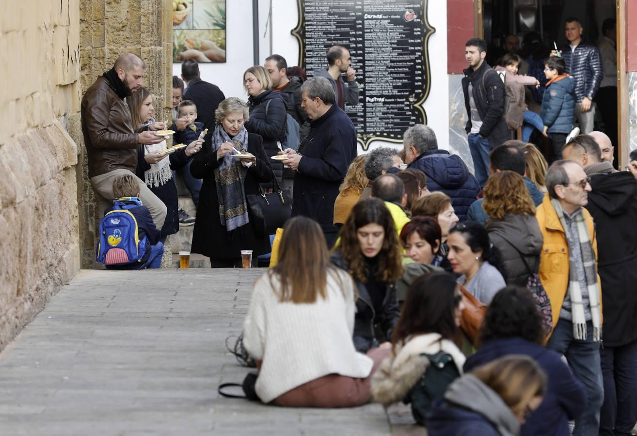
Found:
[[[604,402],[604,384],[601,375],[599,342],[593,342],[592,323],[586,323],[587,337],[583,341],[573,338],[573,323],[557,321],[547,348],[566,356],[573,376],[583,384],[586,404],[582,416],[575,420],[573,436],[598,436],[599,411]]]

